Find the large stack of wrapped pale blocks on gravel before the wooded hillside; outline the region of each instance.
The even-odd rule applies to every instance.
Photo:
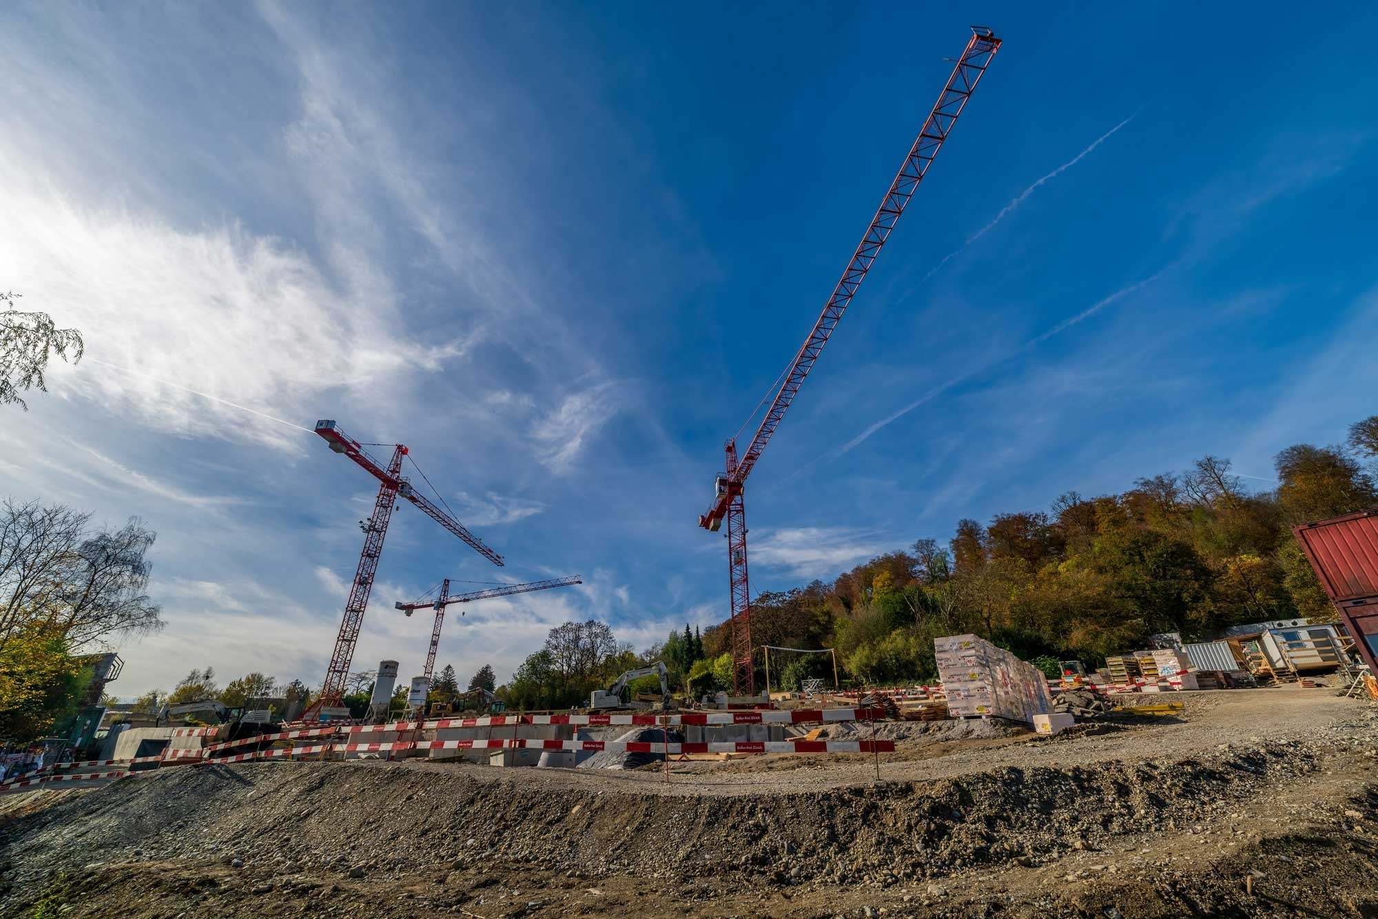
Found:
[[[934,638],[938,678],[955,716],[995,715],[1034,723],[1053,711],[1047,677],[976,635]]]

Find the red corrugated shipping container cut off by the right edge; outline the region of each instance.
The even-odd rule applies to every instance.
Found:
[[[1378,510],[1294,526],[1310,566],[1378,675]]]

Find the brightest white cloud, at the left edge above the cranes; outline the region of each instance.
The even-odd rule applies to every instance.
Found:
[[[92,358],[56,366],[54,384],[149,427],[299,449],[302,434],[187,389],[309,426],[327,390],[369,400],[373,384],[453,353],[397,338],[386,299],[353,298],[280,240],[79,203],[3,141],[0,172],[6,282],[80,328]]]

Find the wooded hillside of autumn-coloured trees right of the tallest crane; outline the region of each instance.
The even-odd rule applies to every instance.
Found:
[[[1298,444],[1257,491],[1203,456],[1118,495],[1067,492],[1049,510],[962,519],[943,544],[914,544],[841,575],[752,601],[754,646],[834,648],[863,683],[930,681],[933,639],[974,632],[1025,660],[1100,661],[1149,635],[1203,638],[1239,623],[1333,619],[1291,526],[1378,506],[1378,415],[1342,445]],[[726,623],[703,653],[730,650]],[[831,678],[827,656],[772,654],[773,683]],[[761,660],[758,654],[758,670]],[[762,674],[763,677],[763,674]]]

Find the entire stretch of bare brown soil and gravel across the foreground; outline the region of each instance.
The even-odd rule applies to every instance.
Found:
[[[356,761],[12,795],[0,916],[1378,916],[1378,705],[1145,701],[1186,710],[875,725],[903,734],[879,781],[870,755]]]

